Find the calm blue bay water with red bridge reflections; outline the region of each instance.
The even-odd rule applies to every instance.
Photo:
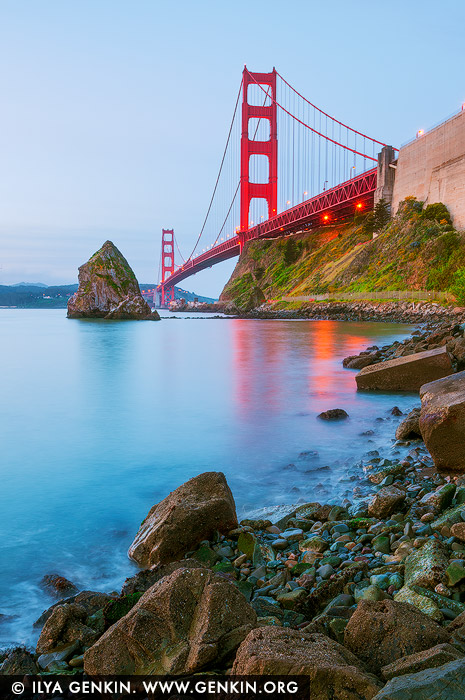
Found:
[[[0,644],[33,641],[44,574],[119,589],[149,508],[202,471],[225,472],[240,515],[350,497],[362,455],[390,449],[390,409],[415,398],[358,394],[341,360],[409,329],[1,310],[0,614],[15,617]],[[316,418],[329,408],[350,419]]]

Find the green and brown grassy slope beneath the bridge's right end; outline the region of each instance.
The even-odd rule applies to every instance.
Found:
[[[465,266],[465,233],[425,219],[410,201],[378,237],[363,220],[247,244],[221,299],[241,306],[253,287],[267,299],[326,292],[449,291]]]

